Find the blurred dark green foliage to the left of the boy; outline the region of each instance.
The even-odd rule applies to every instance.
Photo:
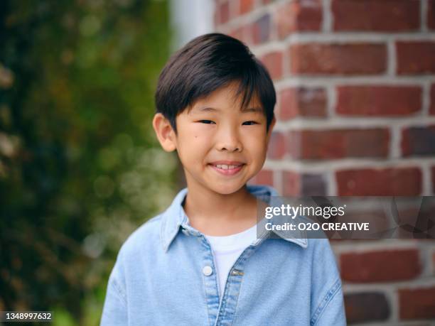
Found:
[[[0,310],[97,315],[119,246],[176,192],[155,141],[165,1],[0,1]],[[95,320],[94,320],[95,322]]]

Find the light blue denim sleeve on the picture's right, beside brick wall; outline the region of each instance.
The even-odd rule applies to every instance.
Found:
[[[311,326],[345,326],[340,273],[328,239],[316,239],[313,253]]]

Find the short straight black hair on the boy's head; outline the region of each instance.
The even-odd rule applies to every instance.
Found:
[[[221,33],[198,36],[171,56],[159,76],[156,112],[177,132],[178,114],[230,82],[239,83],[236,94],[243,94],[242,108],[257,95],[269,130],[276,103],[269,72],[244,43]]]

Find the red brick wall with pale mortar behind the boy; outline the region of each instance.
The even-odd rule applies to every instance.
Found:
[[[435,194],[435,0],[216,0],[271,73],[252,183],[283,195]],[[434,241],[339,241],[350,324],[435,325]],[[370,324],[373,325],[373,324]]]

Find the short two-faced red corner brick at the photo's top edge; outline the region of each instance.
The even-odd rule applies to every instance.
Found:
[[[276,9],[275,21],[279,38],[285,38],[294,31],[320,31],[322,23],[321,1],[289,1]]]

